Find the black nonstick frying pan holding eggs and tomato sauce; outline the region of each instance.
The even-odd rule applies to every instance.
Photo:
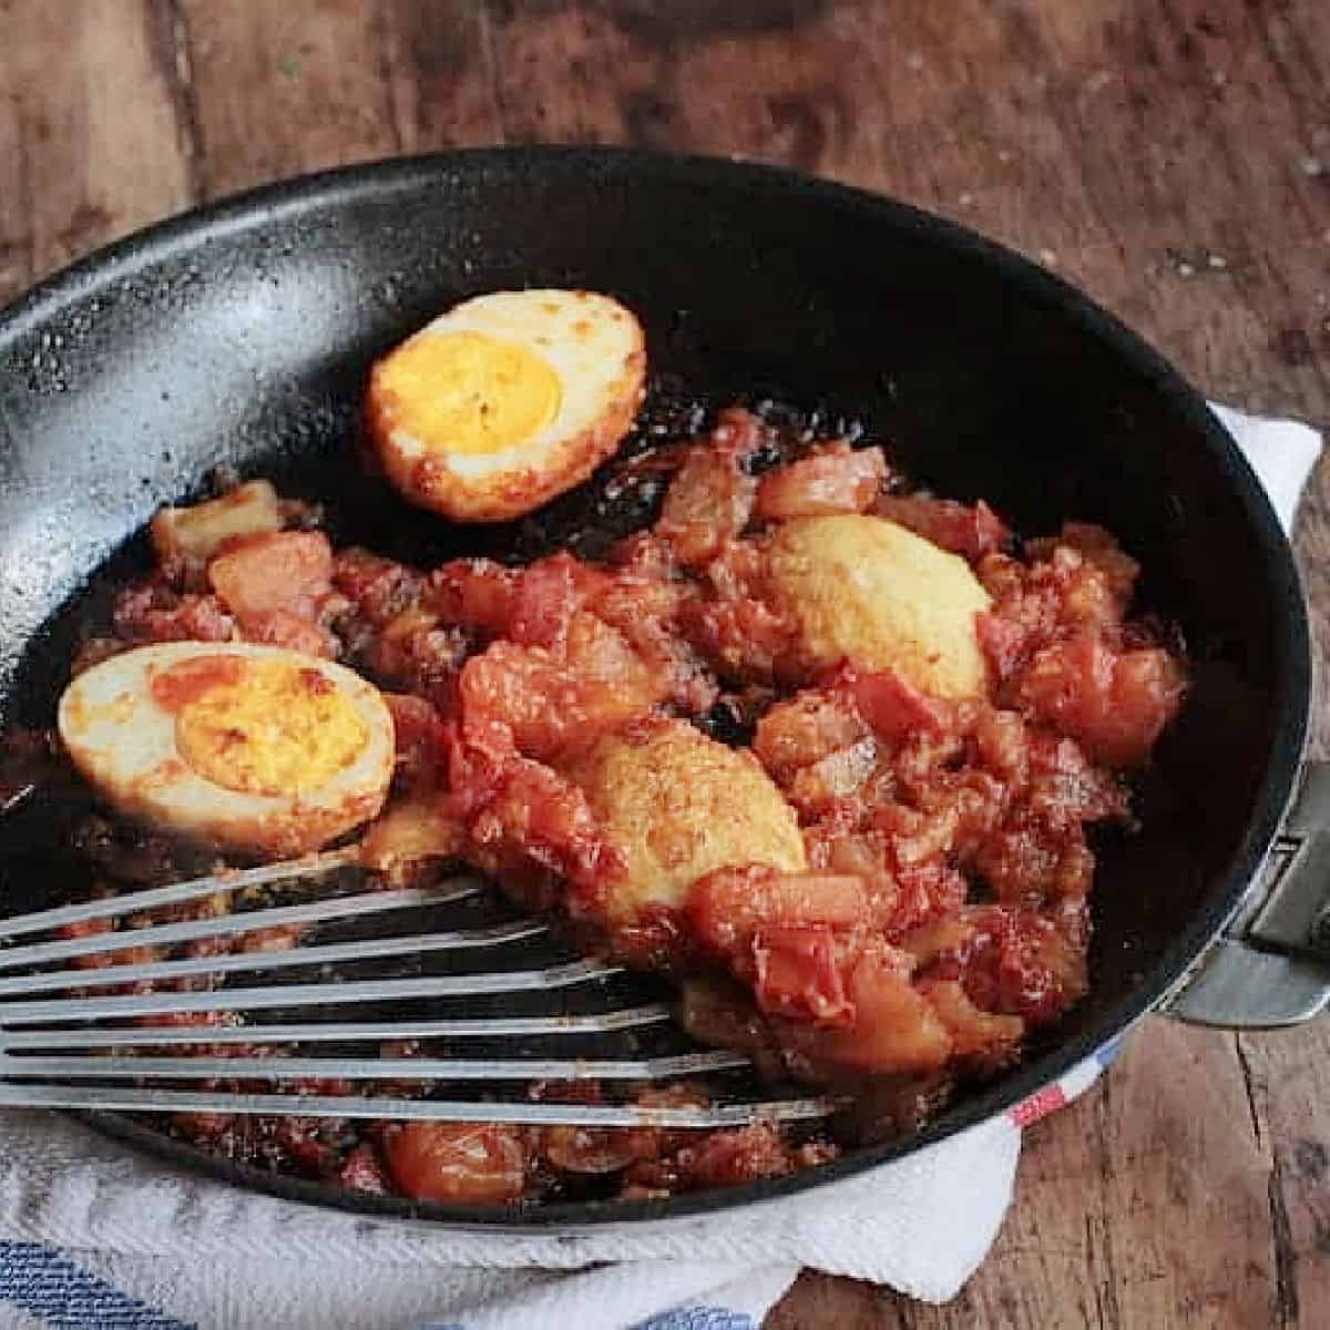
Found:
[[[334,496],[363,487],[348,459],[370,360],[459,298],[545,285],[624,299],[656,370],[718,398],[830,400],[915,480],[983,496],[1029,533],[1103,523],[1144,561],[1144,598],[1181,626],[1194,677],[1144,782],[1142,833],[1103,850],[1089,998],[1044,1051],[914,1137],[664,1202],[423,1205],[231,1166],[113,1115],[101,1129],[383,1216],[583,1226],[746,1205],[940,1140],[1059,1076],[1161,999],[1261,863],[1303,743],[1307,624],[1287,543],[1204,402],[1015,254],[888,200],[724,161],[519,148],[334,172],[154,227],[0,314],[5,721],[49,724],[69,652],[59,612],[158,504],[222,462]],[[414,533],[418,559],[456,540],[396,504],[379,521],[362,535]]]

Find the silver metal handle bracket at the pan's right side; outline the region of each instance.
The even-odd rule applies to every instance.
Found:
[[[1330,762],[1309,762],[1265,866],[1218,939],[1158,1011],[1273,1029],[1330,1005]]]

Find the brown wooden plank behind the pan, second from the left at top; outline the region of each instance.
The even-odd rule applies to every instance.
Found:
[[[205,196],[398,150],[376,7],[178,3]]]

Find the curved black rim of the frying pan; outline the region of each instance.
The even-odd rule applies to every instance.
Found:
[[[568,173],[580,177],[591,172],[625,186],[634,180],[649,178],[656,184],[676,181],[690,188],[743,189],[761,192],[778,201],[807,198],[818,206],[853,214],[861,223],[888,221],[896,231],[922,234],[930,243],[995,267],[1020,298],[1057,306],[1079,332],[1105,344],[1124,371],[1134,374],[1146,384],[1208,451],[1244,511],[1270,593],[1283,606],[1283,633],[1271,644],[1281,689],[1275,700],[1273,739],[1242,843],[1226,872],[1210,883],[1204,906],[1197,910],[1188,927],[1173,939],[1130,992],[1101,1012],[1092,1029],[1023,1063],[992,1085],[972,1092],[919,1132],[847,1152],[831,1164],[782,1178],[684,1193],[664,1201],[553,1202],[500,1209],[448,1206],[412,1202],[400,1197],[374,1197],[235,1165],[120,1115],[80,1112],[74,1116],[104,1134],[129,1141],[158,1157],[283,1200],[379,1218],[525,1234],[551,1229],[595,1233],[616,1224],[644,1228],[654,1222],[746,1209],[758,1202],[830,1186],[1000,1116],[1085,1057],[1093,1056],[1105,1043],[1120,1037],[1168,996],[1237,907],[1282,821],[1309,726],[1310,630],[1291,549],[1265,491],[1232,438],[1208,410],[1204,398],[1182,375],[1121,321],[1063,278],[995,241],[912,205],[787,168],[738,158],[581,145],[493,146],[390,157],[261,185],[138,230],[37,283],[0,310],[0,351],[40,327],[69,302],[92,294],[104,283],[132,275],[210,238],[226,238],[286,217],[325,214],[335,210],[339,202],[354,198],[382,198],[395,192],[438,189],[480,180],[491,172],[540,176]]]

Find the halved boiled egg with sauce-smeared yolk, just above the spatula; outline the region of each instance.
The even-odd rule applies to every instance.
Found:
[[[164,642],[65,689],[60,737],[122,813],[262,855],[299,855],[375,817],[392,717],[340,665],[247,642]]]

